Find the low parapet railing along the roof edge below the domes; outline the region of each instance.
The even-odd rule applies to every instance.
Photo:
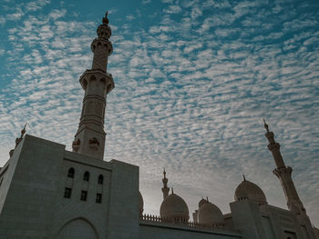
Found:
[[[181,218],[171,219],[171,218],[160,217],[159,215],[152,215],[152,214],[141,214],[139,215],[139,220],[145,221],[145,222],[160,223],[160,224],[182,225],[182,226],[188,226],[195,229],[211,229],[211,228],[218,228],[218,227],[225,226],[225,224],[199,224],[199,223],[190,222]]]

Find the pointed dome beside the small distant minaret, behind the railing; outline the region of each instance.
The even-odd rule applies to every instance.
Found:
[[[160,217],[187,222],[190,219],[189,207],[179,195],[170,194],[160,204]]]

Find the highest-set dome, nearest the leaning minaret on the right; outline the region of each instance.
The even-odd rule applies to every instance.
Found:
[[[262,189],[247,180],[242,181],[242,183],[237,186],[234,198],[235,201],[250,199],[258,204],[268,204]]]

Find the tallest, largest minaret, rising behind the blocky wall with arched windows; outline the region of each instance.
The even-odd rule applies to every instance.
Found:
[[[85,90],[82,114],[77,134],[73,141],[73,152],[86,154],[103,160],[105,147],[104,115],[107,106],[107,95],[114,88],[112,75],[107,72],[108,55],[113,46],[108,38],[111,29],[108,26],[108,12],[98,25],[98,38],[91,44],[94,54],[92,69],[81,75],[79,82]]]

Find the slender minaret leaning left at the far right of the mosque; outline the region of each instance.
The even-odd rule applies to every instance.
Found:
[[[275,174],[279,178],[283,186],[283,192],[286,196],[288,208],[289,210],[295,212],[298,215],[306,214],[304,204],[300,200],[299,195],[293,184],[293,169],[289,166],[285,166],[282,154],[280,153],[280,144],[274,141],[274,134],[273,132],[269,131],[268,124],[266,124],[264,119],[263,123],[267,131],[265,136],[269,141],[268,149],[272,152],[274,162],[277,166],[277,168],[273,170],[273,174]]]

